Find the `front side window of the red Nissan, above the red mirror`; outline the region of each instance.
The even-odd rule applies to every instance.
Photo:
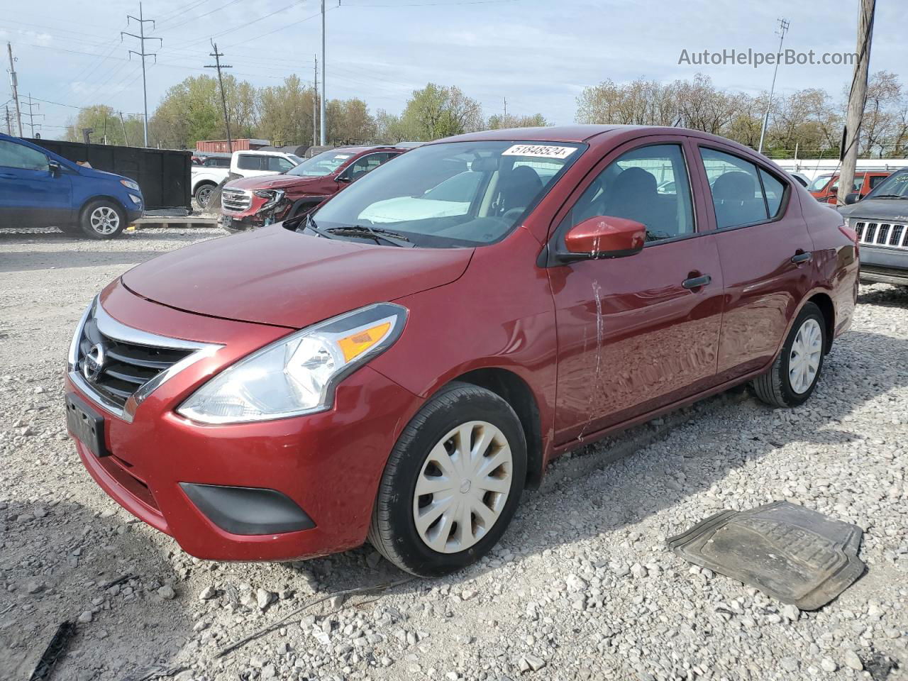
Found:
[[[690,182],[678,144],[654,144],[622,154],[587,187],[559,227],[607,215],[646,225],[646,241],[694,233]]]

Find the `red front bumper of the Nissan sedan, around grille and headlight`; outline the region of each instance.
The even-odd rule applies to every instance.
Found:
[[[390,450],[421,400],[365,366],[341,383],[328,411],[230,426],[193,423],[174,411],[193,390],[290,330],[175,311],[139,299],[119,284],[105,293],[105,310],[127,326],[147,331],[153,326],[153,332],[173,336],[182,328],[177,337],[192,329],[192,340],[223,345],[154,390],[132,422],[92,401],[104,414],[111,456],[97,458],[80,442],[76,449],[108,495],[198,558],[292,560],[362,544]],[[66,390],[91,400],[71,380],[66,383]],[[227,489],[234,503],[222,494],[216,498],[220,493],[213,500],[209,494],[206,502],[198,490],[210,488],[202,486]],[[242,489],[250,488],[253,492],[243,497]],[[238,504],[237,498],[248,503]],[[219,507],[231,518],[225,521]],[[262,518],[267,522],[262,524]],[[275,518],[291,524],[269,525]],[[261,534],[257,528],[283,531]]]

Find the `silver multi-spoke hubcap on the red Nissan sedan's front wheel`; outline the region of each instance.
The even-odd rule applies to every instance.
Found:
[[[425,545],[458,553],[476,544],[504,510],[513,476],[504,433],[486,421],[452,429],[429,451],[413,496],[413,519]]]

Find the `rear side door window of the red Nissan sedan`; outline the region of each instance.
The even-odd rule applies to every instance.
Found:
[[[785,183],[762,168],[758,170],[755,163],[731,153],[701,147],[700,156],[709,180],[718,229],[765,222],[781,210]]]

